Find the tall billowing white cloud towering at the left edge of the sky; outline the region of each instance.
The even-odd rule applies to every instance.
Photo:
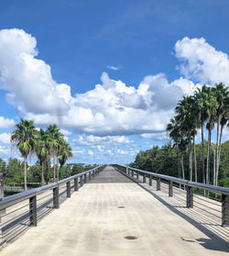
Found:
[[[36,59],[36,46],[36,39],[22,29],[0,30],[0,88],[9,92],[8,102],[22,112],[60,115],[68,105],[57,93],[68,88],[52,79],[45,61]]]

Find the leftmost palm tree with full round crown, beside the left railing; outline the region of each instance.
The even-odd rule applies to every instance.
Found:
[[[16,124],[16,129],[11,133],[11,142],[16,144],[24,158],[24,186],[27,190],[27,156],[36,149],[38,139],[38,130],[34,126],[34,122],[21,118],[21,122]]]

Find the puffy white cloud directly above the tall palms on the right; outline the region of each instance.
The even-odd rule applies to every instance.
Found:
[[[188,79],[200,83],[229,84],[229,59],[222,51],[215,50],[205,39],[184,38],[175,45],[176,57],[183,63],[180,72]]]

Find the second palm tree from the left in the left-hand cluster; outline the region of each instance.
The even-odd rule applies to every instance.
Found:
[[[36,152],[41,165],[41,185],[44,185],[44,163],[49,158],[49,134],[42,128],[39,130]]]

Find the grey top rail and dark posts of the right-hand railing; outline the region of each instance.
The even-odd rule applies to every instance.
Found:
[[[222,195],[222,227],[229,226],[229,188],[211,184],[195,183],[168,175],[146,172],[125,165],[113,164],[113,166],[117,171],[124,173],[129,177],[134,178],[136,175],[136,180],[139,180],[139,175],[142,175],[143,183],[146,183],[146,179],[148,177],[148,184],[150,186],[152,185],[152,179],[154,178],[157,183],[156,186],[158,191],[160,190],[161,182],[167,181],[169,184],[169,196],[173,196],[174,184],[182,184],[186,189],[186,206],[188,208],[193,207],[193,188],[199,188]]]

